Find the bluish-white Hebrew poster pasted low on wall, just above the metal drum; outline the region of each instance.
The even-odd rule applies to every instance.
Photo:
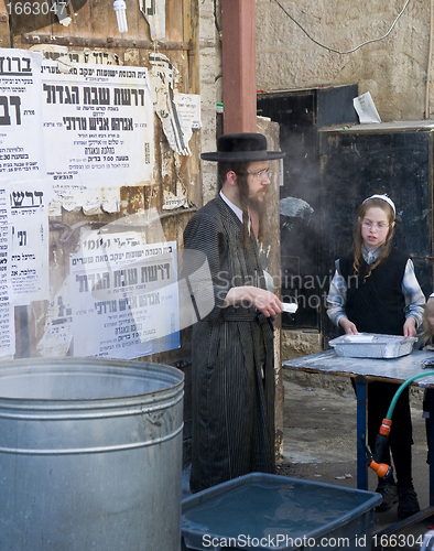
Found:
[[[178,346],[175,241],[84,234],[70,256],[70,289],[74,356],[133,359]]]

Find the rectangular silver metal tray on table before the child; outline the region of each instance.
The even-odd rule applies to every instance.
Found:
[[[348,358],[399,358],[410,354],[416,337],[402,335],[379,335],[359,333],[358,335],[341,335],[329,341],[338,356]]]

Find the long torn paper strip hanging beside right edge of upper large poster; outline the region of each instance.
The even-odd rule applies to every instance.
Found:
[[[188,141],[184,137],[181,119],[173,93],[173,78],[176,68],[169,57],[160,53],[150,54],[152,65],[150,80],[154,98],[154,110],[163,126],[170,147],[181,155],[191,155]]]

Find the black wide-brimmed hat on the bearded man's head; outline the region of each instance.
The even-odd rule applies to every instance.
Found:
[[[254,162],[273,161],[282,159],[282,151],[267,151],[267,138],[254,132],[241,132],[238,134],[223,134],[217,140],[217,151],[202,153],[205,161],[224,162]]]

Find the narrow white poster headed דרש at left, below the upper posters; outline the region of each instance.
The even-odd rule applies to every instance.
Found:
[[[17,182],[9,187],[11,283],[13,304],[48,300],[48,204],[46,180]]]

